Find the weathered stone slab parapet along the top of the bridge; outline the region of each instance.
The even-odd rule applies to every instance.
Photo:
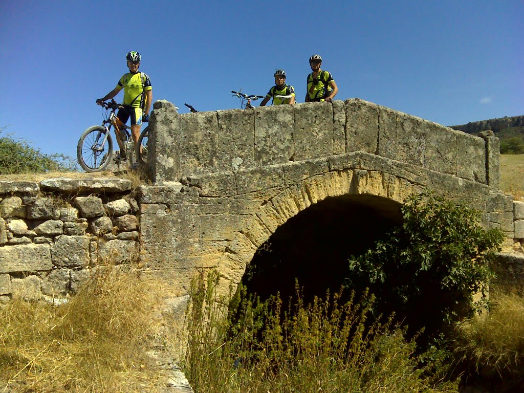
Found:
[[[150,122],[156,182],[363,151],[499,187],[499,141],[360,99],[179,115],[157,101]]]

